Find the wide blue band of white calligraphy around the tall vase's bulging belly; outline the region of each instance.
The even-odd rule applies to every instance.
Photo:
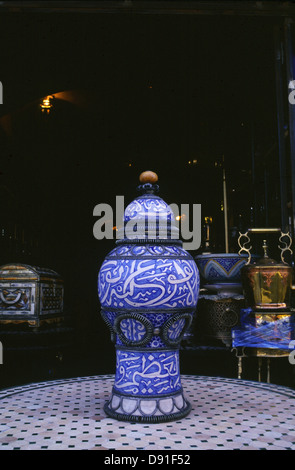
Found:
[[[99,273],[99,297],[106,307],[194,307],[199,282],[191,260],[106,260]]]

